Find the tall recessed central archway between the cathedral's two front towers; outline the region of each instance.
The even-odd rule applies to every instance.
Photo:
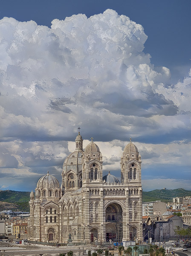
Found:
[[[123,210],[121,205],[111,203],[105,210],[105,239],[121,242],[123,238]]]

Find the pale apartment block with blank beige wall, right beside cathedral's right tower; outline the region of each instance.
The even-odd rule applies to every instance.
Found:
[[[142,215],[156,215],[166,212],[166,203],[161,201],[144,202],[142,204]]]

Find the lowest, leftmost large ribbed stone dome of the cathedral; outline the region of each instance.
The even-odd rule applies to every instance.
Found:
[[[43,177],[41,177],[39,180],[38,180],[38,183],[37,183],[37,189],[40,188],[40,189],[43,189],[43,188],[60,188],[60,185],[59,185],[59,182],[58,180],[52,176],[52,175],[49,175],[49,173],[47,173],[46,175],[44,175]]]

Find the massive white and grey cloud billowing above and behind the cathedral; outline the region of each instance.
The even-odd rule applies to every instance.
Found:
[[[110,9],[55,19],[51,28],[0,20],[2,168],[42,174],[46,167],[57,175],[78,125],[84,139],[99,141],[105,171],[119,169],[130,136],[190,140],[191,78],[169,86],[170,71],[150,62],[146,40],[141,25]],[[161,152],[145,148],[145,166]]]

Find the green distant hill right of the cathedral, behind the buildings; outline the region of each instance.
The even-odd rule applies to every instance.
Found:
[[[185,189],[155,189],[149,192],[143,191],[142,201],[150,202],[160,200],[162,202],[171,202],[174,197],[191,196],[190,190]]]

